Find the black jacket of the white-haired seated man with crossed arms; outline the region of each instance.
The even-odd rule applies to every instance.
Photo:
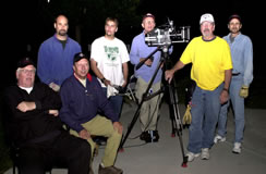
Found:
[[[21,112],[16,107],[22,101],[34,101],[36,109]],[[17,146],[47,139],[47,135],[62,129],[59,116],[48,114],[48,110],[60,110],[60,96],[45,84],[35,84],[31,94],[11,86],[4,91],[4,102],[9,136]]]

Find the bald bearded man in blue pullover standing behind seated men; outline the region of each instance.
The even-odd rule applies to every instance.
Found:
[[[59,91],[63,80],[73,74],[73,58],[81,52],[81,46],[68,36],[66,16],[58,15],[53,25],[56,34],[40,45],[37,74],[43,83]]]

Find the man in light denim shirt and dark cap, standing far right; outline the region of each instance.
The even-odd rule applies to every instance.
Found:
[[[232,102],[235,133],[232,152],[241,153],[241,142],[244,132],[244,98],[249,96],[249,86],[253,80],[253,47],[250,37],[242,35],[241,17],[237,14],[229,17],[228,28],[230,33],[223,37],[230,46],[232,55],[232,79],[229,88],[230,101]],[[226,140],[226,124],[229,102],[221,107],[218,134],[215,144]]]

